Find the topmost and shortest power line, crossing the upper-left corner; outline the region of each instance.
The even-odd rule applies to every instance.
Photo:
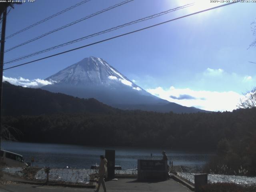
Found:
[[[26,27],[26,28],[24,28],[22,30],[19,30],[18,32],[15,32],[14,34],[11,34],[11,35],[7,36],[6,39],[11,38],[11,37],[13,37],[13,36],[15,36],[15,35],[17,35],[17,34],[19,34],[21,32],[24,32],[24,31],[26,31],[26,30],[34,27],[34,26],[37,26],[37,25],[39,25],[39,24],[41,24],[43,22],[46,22],[47,20],[50,20],[50,19],[52,19],[52,18],[54,18],[54,17],[56,17],[56,16],[58,16],[60,14],[63,14],[64,12],[67,12],[67,11],[69,11],[69,10],[71,10],[71,9],[77,7],[77,6],[80,6],[80,5],[82,5],[82,4],[84,4],[84,3],[88,2],[88,1],[90,1],[90,0],[83,0],[80,3],[77,3],[77,4],[75,4],[75,5],[71,6],[71,7],[68,7],[68,8],[66,8],[66,9],[64,9],[64,10],[62,10],[62,11],[56,13],[56,14],[53,14],[52,16],[49,16],[49,17],[47,17],[47,18],[45,18],[43,20],[40,20],[40,21],[38,21],[38,22],[36,22],[36,23],[34,23],[34,24],[32,24],[32,25],[30,25],[30,26],[28,26],[28,27]]]

